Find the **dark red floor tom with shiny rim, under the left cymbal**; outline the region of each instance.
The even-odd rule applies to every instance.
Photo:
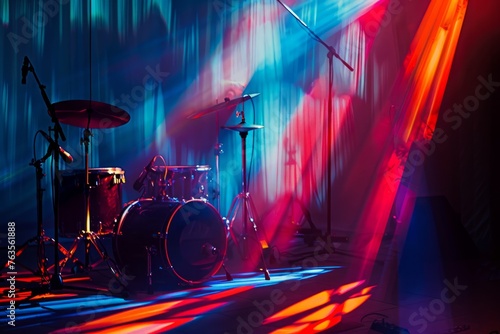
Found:
[[[74,237],[86,230],[85,170],[61,171],[59,199],[59,230],[65,237]],[[123,207],[121,168],[89,168],[90,231],[113,233],[115,219]]]

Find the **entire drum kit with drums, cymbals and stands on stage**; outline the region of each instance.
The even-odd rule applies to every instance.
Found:
[[[238,104],[257,95],[226,99],[190,118],[236,108]],[[140,196],[123,205],[124,171],[120,168],[89,168],[88,146],[92,136],[90,129],[124,125],[130,120],[129,114],[118,107],[95,101],[62,101],[51,106],[53,118],[84,129],[81,143],[85,146],[84,170],[56,170],[59,180],[55,183],[59,183],[60,187],[59,200],[54,205],[57,206],[55,214],[59,215],[55,221],[56,249],[61,249],[58,244],[59,233],[74,238],[71,247],[62,251],[65,258],[59,260],[56,256],[54,261],[58,280],[62,280],[62,268],[70,260],[78,263],[76,269],[80,272],[98,264],[90,264],[91,246],[95,247],[101,258],[99,263],[106,261],[117,278],[139,278],[141,282],[147,283],[149,291],[153,282],[199,284],[221,268],[227,279],[232,279],[224,265],[228,241],[232,240],[243,253],[245,250],[248,252],[248,248],[240,244],[241,240],[249,239],[246,225],[250,224],[256,236],[260,228],[248,191],[245,139],[248,132],[263,126],[247,124],[243,111],[240,114],[241,123],[223,127],[239,133],[241,137],[243,174],[242,191],[234,198],[227,218],[223,218],[208,200],[211,168],[208,165],[169,166],[161,155],[155,156],[135,181],[133,188],[141,193]],[[162,165],[156,164],[158,159],[163,160]],[[218,161],[216,166],[218,176]],[[215,192],[218,196],[218,189]],[[235,228],[239,210],[243,210],[242,216],[239,216],[245,226],[242,231]],[[43,233],[40,231],[41,228],[39,234]],[[114,259],[107,255],[102,246],[100,236],[104,235],[112,236]],[[85,245],[85,263],[75,256],[81,242]],[[259,252],[265,279],[269,280],[263,248]],[[242,260],[246,258],[243,253]]]

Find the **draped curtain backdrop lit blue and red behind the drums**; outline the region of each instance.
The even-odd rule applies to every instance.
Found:
[[[242,190],[242,147],[238,133],[221,126],[238,124],[235,111],[243,110],[247,123],[264,126],[249,133],[247,167],[269,240],[285,245],[284,231],[308,227],[310,214],[322,231],[331,224],[351,238],[347,247],[373,259],[391,218],[408,223],[415,197],[426,193],[420,171],[446,135],[437,122],[452,123],[440,110],[469,4],[283,2],[354,68],[333,58],[330,115],[328,50],[277,1],[2,1],[2,220],[16,221],[26,237],[36,232],[29,162],[47,149],[35,133],[53,124],[32,73],[21,84],[28,56],[50,102],[89,99],[130,114],[122,126],[92,129],[89,153],[90,167],[124,170],[124,204],[139,196],[132,185],[156,155],[167,165],[209,165],[215,203],[214,147],[222,143],[225,216]],[[189,117],[253,93],[235,110]],[[60,144],[75,161],[60,168],[81,170],[83,128],[62,125]],[[48,234],[51,161],[43,166]]]

